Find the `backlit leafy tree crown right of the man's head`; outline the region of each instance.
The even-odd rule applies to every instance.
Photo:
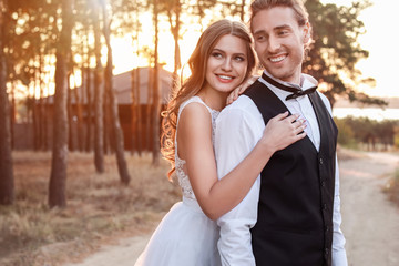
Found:
[[[358,37],[366,32],[358,17],[370,7],[370,1],[352,2],[350,7],[323,4],[319,0],[305,3],[313,25],[314,43],[304,63],[304,72],[315,76],[327,86],[326,96],[331,105],[336,95],[347,95],[352,101],[365,104],[386,105],[380,99],[358,93],[356,84],[375,83],[371,78],[362,78],[356,63],[366,59],[369,52],[358,43]],[[349,78],[352,84],[345,82]]]

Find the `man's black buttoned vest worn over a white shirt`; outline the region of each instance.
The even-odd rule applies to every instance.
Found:
[[[286,105],[257,81],[245,94],[265,124]],[[258,219],[252,245],[258,266],[330,266],[335,156],[338,130],[318,93],[315,110],[320,149],[305,139],[276,152],[260,173]]]

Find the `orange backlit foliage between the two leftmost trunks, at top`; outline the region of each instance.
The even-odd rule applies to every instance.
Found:
[[[57,1],[9,1],[8,80],[33,84],[43,64],[43,55],[54,52],[58,34]]]

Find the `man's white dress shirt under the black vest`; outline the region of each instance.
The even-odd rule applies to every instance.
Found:
[[[265,73],[268,74],[267,72]],[[267,84],[267,86],[282,100],[293,114],[300,114],[301,117],[306,119],[307,126],[305,132],[311,140],[317,151],[319,151],[320,132],[309,98],[305,95],[286,101],[285,98],[289,95],[290,92],[277,89],[262,78],[259,78],[259,81]],[[284,83],[282,81],[278,82]],[[301,90],[306,90],[314,85],[317,85],[317,81],[310,75],[303,74],[301,86],[296,86]],[[319,93],[319,95],[331,114],[331,108],[327,98],[321,93]],[[217,174],[219,177],[229,173],[248,155],[262,137],[264,129],[265,122],[260,112],[255,103],[246,95],[239,96],[235,102],[226,106],[221,112],[216,120],[215,133],[215,155],[217,162]],[[337,157],[335,175],[332,266],[347,266],[347,256],[344,247],[345,237],[340,229],[341,214]],[[221,238],[217,246],[221,253],[222,265],[224,266],[255,265],[249,229],[257,221],[259,191],[260,175],[255,181],[246,197],[235,208],[223,215],[217,221],[218,226],[221,226]]]

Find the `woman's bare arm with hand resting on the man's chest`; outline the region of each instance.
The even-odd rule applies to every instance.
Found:
[[[248,156],[218,180],[209,112],[200,103],[185,106],[177,129],[178,155],[186,161],[186,171],[195,197],[211,219],[217,219],[229,212],[245,197],[276,151],[305,136],[305,133],[300,133],[304,130],[303,121],[294,122],[298,116],[287,115],[288,113],[284,113],[272,119],[266,125],[264,136]]]

